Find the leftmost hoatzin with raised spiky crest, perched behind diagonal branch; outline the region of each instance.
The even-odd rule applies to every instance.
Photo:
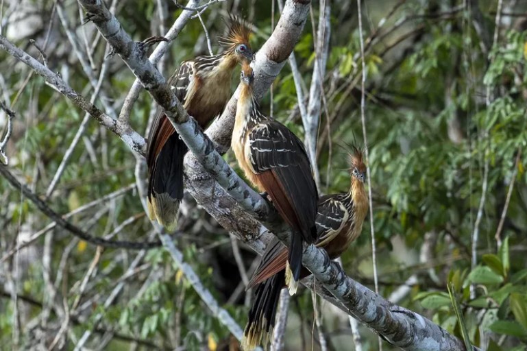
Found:
[[[201,128],[223,111],[231,96],[232,72],[236,64],[250,62],[250,31],[240,19],[231,16],[228,35],[220,43],[226,50],[215,56],[197,56],[182,62],[169,84],[177,99]],[[149,183],[147,205],[150,219],[169,231],[175,230],[177,210],[183,197],[183,158],[185,143],[169,119],[158,113],[148,137]]]

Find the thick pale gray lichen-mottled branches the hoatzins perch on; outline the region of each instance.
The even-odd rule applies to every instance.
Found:
[[[206,173],[201,170],[201,167],[196,167],[198,165],[196,159],[188,155],[186,156],[187,183],[189,191],[195,195],[197,202],[216,217],[222,226],[241,237],[257,252],[262,252],[265,241],[269,240],[271,234],[267,233],[265,237],[262,237],[262,234],[267,232],[267,228],[254,217],[269,219],[268,215],[273,211],[270,211],[269,206],[260,195],[250,189],[228,167],[220,154],[215,151],[210,139],[206,138],[197,128],[195,121],[188,119],[188,114],[168,88],[162,75],[147,60],[143,45],[131,40],[130,36],[123,31],[119,21],[106,10],[102,1],[80,0],[79,2],[88,10],[90,20],[97,25],[116,53],[123,58],[152,97],[164,108],[177,132],[187,143],[191,152],[197,156],[199,164],[204,166],[212,178],[227,190],[217,186],[211,180],[210,175],[200,178],[200,174]],[[254,62],[256,75],[254,91],[257,97],[265,93],[284,66],[285,60],[289,58],[295,43],[302,34],[309,5],[309,1],[287,1],[273,35],[258,51]],[[132,149],[141,151],[144,139],[136,132],[127,128],[125,130],[127,134],[123,134],[124,130],[117,128],[116,121],[97,110],[59,77],[1,36],[0,47],[32,66],[37,73],[46,78],[49,84],[56,86],[77,106],[93,114],[101,124],[118,134]],[[225,152],[230,145],[235,109],[236,94],[232,97],[223,115],[208,130],[208,135],[216,142],[221,152]],[[211,198],[211,195],[219,196]],[[234,206],[235,204],[239,206]],[[284,230],[281,223],[266,222],[266,225],[279,235],[282,241],[288,241],[289,232]],[[315,274],[323,287],[334,295],[334,298],[330,298],[330,295],[323,289],[317,289],[317,293],[344,308],[347,313],[378,332],[393,345],[404,350],[464,350],[460,340],[433,324],[429,319],[387,302],[380,295],[347,277],[339,265],[329,260],[323,250],[310,245],[304,250],[303,263]]]

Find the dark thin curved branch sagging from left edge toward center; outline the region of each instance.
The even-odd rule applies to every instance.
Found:
[[[148,250],[155,247],[160,247],[162,243],[160,241],[151,241],[151,242],[139,242],[134,243],[130,241],[110,241],[98,237],[92,237],[90,234],[84,232],[79,227],[74,226],[69,221],[66,221],[64,218],[62,218],[61,215],[56,213],[54,210],[49,208],[47,204],[42,201],[38,196],[33,193],[32,191],[27,188],[24,184],[21,184],[14,175],[9,171],[9,169],[4,166],[0,165],[0,173],[4,176],[6,180],[17,190],[21,191],[21,193],[27,197],[35,206],[44,213],[47,217],[52,219],[57,223],[58,226],[61,228],[64,228],[65,230],[68,230],[71,232],[71,234],[75,235],[75,237],[79,237],[80,239],[87,241],[88,243],[93,243],[95,245],[101,245],[104,247],[114,247],[114,248],[124,248],[124,249],[130,249],[130,250]]]

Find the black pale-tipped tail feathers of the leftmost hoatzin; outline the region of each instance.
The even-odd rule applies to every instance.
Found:
[[[183,158],[187,147],[177,133],[169,140],[150,170],[148,186],[148,215],[169,232],[177,227],[177,210],[183,198]]]

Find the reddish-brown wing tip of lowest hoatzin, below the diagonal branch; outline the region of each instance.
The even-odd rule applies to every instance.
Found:
[[[262,256],[262,261],[260,261],[260,265],[254,271],[251,281],[247,285],[247,289],[260,284],[260,282],[267,280],[267,278],[285,269],[287,254],[287,247],[278,238],[273,238],[269,245],[267,245],[265,253]]]

